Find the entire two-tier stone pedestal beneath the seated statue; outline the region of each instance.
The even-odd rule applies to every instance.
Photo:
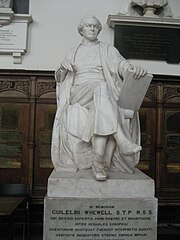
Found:
[[[104,182],[91,170],[53,171],[44,205],[44,240],[155,240],[154,181],[110,172]]]

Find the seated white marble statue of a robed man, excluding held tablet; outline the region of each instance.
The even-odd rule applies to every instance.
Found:
[[[133,173],[139,161],[138,113],[118,106],[127,70],[146,74],[118,50],[98,41],[102,29],[94,16],[85,16],[78,31],[82,42],[71,49],[55,72],[57,112],[51,155],[57,171],[92,168],[96,180],[108,169]]]

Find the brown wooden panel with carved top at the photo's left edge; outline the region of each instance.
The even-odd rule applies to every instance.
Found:
[[[0,181],[29,179],[29,101],[27,77],[0,76]]]

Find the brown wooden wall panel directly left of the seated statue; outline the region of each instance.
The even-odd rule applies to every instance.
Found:
[[[34,191],[46,191],[47,179],[53,170],[51,162],[51,137],[55,104],[38,103],[36,106]]]

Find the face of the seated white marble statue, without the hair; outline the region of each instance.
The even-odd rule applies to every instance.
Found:
[[[99,34],[98,22],[95,18],[85,18],[84,27],[82,29],[82,36],[89,41],[94,41],[97,39]]]

